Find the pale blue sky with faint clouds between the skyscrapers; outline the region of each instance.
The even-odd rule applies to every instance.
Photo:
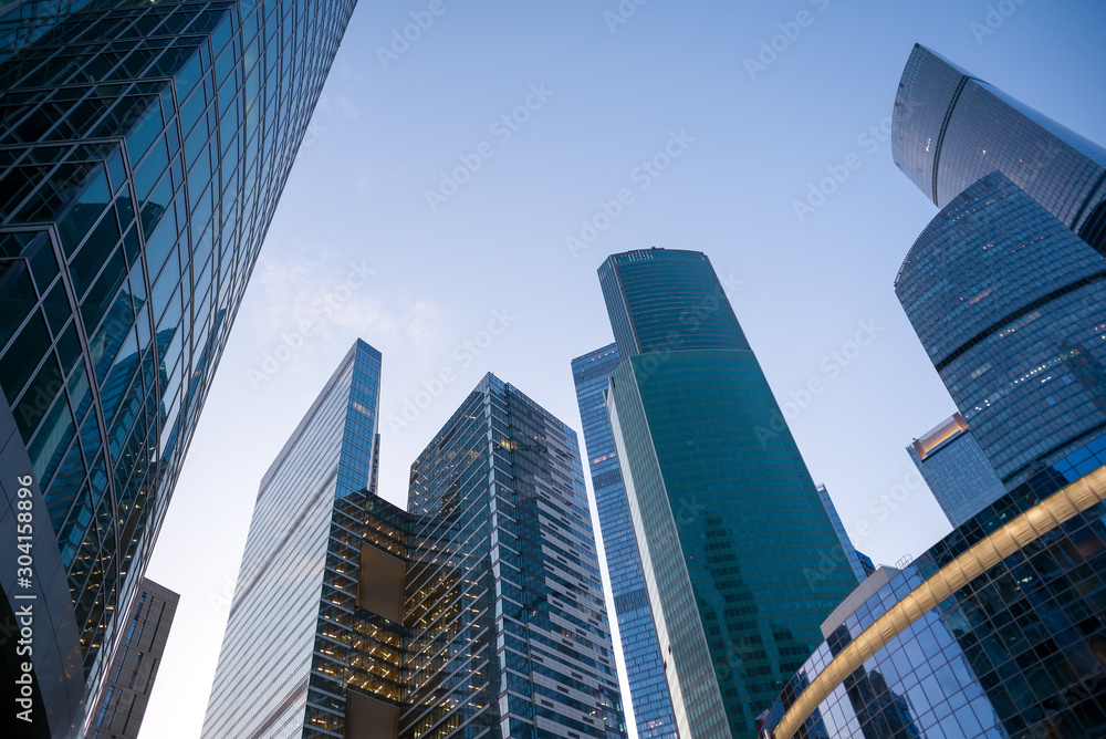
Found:
[[[1072,0],[362,2],[148,571],[181,601],[143,737],[199,735],[258,485],[352,342],[384,354],[382,495],[403,504],[487,371],[578,431],[570,361],[612,341],[595,270],[613,252],[707,252],[857,548],[925,551],[949,525],[896,486],[954,407],[891,288],[936,215],[891,163],[899,75],[920,42],[1104,143],[1104,21]]]

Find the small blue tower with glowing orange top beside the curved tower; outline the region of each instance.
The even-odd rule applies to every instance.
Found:
[[[959,413],[906,448],[953,528],[1006,495]]]

